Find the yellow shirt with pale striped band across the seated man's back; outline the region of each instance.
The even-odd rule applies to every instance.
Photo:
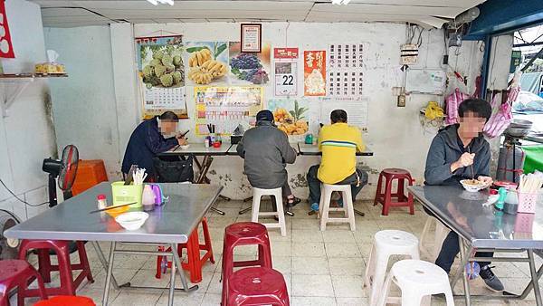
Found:
[[[322,127],[319,132],[319,150],[322,152],[319,180],[336,184],[355,173],[357,150],[364,149],[360,129],[342,122]]]

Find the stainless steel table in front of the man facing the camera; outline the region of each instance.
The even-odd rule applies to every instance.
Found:
[[[452,278],[451,288],[463,273],[466,304],[471,304],[469,283],[465,265],[474,261],[529,263],[531,282],[524,292],[504,292],[500,298],[524,299],[532,287],[536,303],[542,305],[538,279],[543,274],[543,265],[536,270],[534,253],[543,249],[543,207],[539,203],[536,214],[503,214],[493,206],[482,206],[488,192],[470,193],[462,186],[409,186],[407,188],[424,207],[459,235],[461,264]],[[533,230],[532,230],[533,229]],[[499,253],[527,253],[526,257],[472,257],[475,251]],[[482,296],[488,299],[489,296]]]

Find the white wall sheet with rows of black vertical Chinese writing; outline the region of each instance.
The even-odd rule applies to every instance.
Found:
[[[330,44],[328,54],[329,96],[362,96],[364,89],[364,43]]]

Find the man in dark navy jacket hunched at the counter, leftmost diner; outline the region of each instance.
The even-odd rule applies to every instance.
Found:
[[[154,177],[153,158],[158,153],[186,144],[185,138],[176,135],[178,121],[174,112],[166,111],[160,116],[141,122],[130,136],[122,160],[122,173],[126,175],[132,165],[138,165],[147,170],[148,178]]]

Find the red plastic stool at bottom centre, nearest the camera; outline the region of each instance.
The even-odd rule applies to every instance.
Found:
[[[228,287],[228,306],[290,305],[285,279],[270,268],[236,271],[228,279]]]

